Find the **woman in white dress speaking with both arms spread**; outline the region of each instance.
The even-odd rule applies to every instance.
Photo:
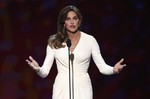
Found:
[[[66,6],[57,20],[57,33],[49,38],[47,53],[42,66],[29,56],[27,63],[41,77],[46,77],[56,60],[58,74],[53,86],[53,99],[92,99],[92,84],[88,74],[91,56],[102,74],[119,73],[126,64],[123,59],[109,66],[103,60],[95,38],[79,30],[82,16],[78,8]],[[67,40],[71,40],[70,53],[74,55],[73,68],[69,69]],[[69,76],[69,70],[71,76]],[[71,77],[71,78],[69,78]],[[73,77],[73,78],[72,78]],[[69,83],[71,79],[71,86]],[[71,90],[70,90],[71,87]],[[70,93],[71,92],[71,93]]]

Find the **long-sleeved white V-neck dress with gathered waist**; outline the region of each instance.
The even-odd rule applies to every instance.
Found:
[[[74,99],[93,99],[92,84],[88,74],[91,56],[102,74],[113,74],[113,67],[104,62],[95,38],[84,32],[81,32],[80,40],[73,54]],[[47,46],[46,57],[38,74],[43,78],[46,77],[49,74],[54,59],[56,60],[58,73],[53,85],[52,98],[69,99],[69,62],[67,46],[60,49],[52,49],[50,46]]]

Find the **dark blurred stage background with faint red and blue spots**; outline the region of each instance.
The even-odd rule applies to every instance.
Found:
[[[123,57],[127,64],[107,76],[91,60],[94,99],[150,98],[149,0],[0,0],[0,99],[51,99],[55,63],[43,79],[25,60],[32,55],[42,65],[57,16],[70,4],[81,10],[81,30],[97,39],[106,63]]]

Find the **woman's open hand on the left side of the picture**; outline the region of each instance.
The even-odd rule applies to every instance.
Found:
[[[31,56],[29,56],[29,59],[26,59],[26,62],[36,72],[38,72],[40,70],[39,64]]]

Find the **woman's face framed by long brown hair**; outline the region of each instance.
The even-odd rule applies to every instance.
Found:
[[[64,25],[67,32],[76,33],[78,31],[80,20],[74,11],[68,12]]]

